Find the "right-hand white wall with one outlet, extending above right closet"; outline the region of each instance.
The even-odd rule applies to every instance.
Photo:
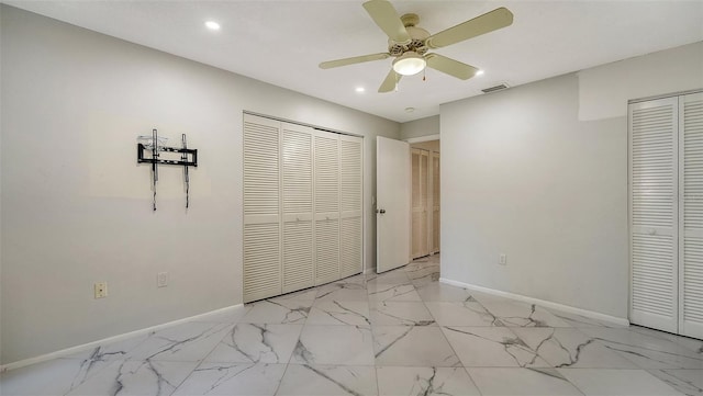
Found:
[[[695,67],[669,80],[681,58],[703,65],[700,44],[442,105],[442,276],[626,318],[625,98],[651,79],[660,93],[703,87]],[[649,63],[661,72],[633,83]],[[582,94],[594,75],[609,83]],[[580,117],[613,95],[615,113]]]

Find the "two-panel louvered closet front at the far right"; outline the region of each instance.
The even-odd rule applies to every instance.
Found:
[[[628,106],[633,324],[703,338],[703,93]]]

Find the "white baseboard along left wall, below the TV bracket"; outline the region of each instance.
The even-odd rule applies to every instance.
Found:
[[[204,313],[204,314],[190,316],[190,317],[178,319],[178,320],[174,320],[174,321],[168,321],[168,323],[156,325],[156,326],[152,326],[152,327],[146,327],[146,328],[143,328],[143,329],[138,329],[138,330],[125,332],[125,333],[122,333],[122,335],[103,338],[103,339],[98,340],[98,341],[92,341],[92,342],[83,343],[83,344],[71,347],[71,348],[62,349],[60,351],[42,354],[42,355],[38,355],[36,358],[30,358],[30,359],[24,359],[24,360],[20,360],[20,361],[16,361],[16,362],[3,364],[3,365],[0,365],[0,373],[5,372],[8,370],[14,370],[14,369],[24,367],[25,365],[30,365],[30,364],[34,364],[34,363],[45,362],[47,360],[52,360],[52,359],[56,359],[56,358],[65,358],[65,357],[68,357],[68,355],[71,355],[71,354],[75,354],[75,353],[78,353],[78,352],[82,352],[82,351],[99,347],[101,344],[122,341],[122,340],[125,340],[127,338],[146,335],[146,333],[149,333],[152,331],[156,331],[156,330],[165,329],[167,327],[185,324],[187,321],[194,321],[194,320],[199,320],[199,319],[204,319],[210,315],[224,314],[227,310],[234,310],[234,309],[236,309],[236,308],[238,308],[241,306],[243,306],[243,304],[232,305],[232,306],[228,306],[228,307],[211,310],[211,312],[208,312],[208,313]]]

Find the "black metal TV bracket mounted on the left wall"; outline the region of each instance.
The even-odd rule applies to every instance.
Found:
[[[178,165],[183,167],[183,178],[186,182],[186,208],[190,206],[190,177],[188,174],[188,167],[198,167],[198,150],[189,149],[186,143],[186,134],[181,135],[181,148],[166,147],[160,144],[158,132],[152,129],[152,138],[140,137],[145,140],[144,143],[137,143],[136,145],[136,160],[137,163],[150,163],[152,165],[152,189],[154,190],[153,208],[156,211],[156,182],[158,181],[158,165]],[[164,140],[161,138],[161,140]],[[179,159],[164,159],[161,155],[166,152],[180,154]],[[149,156],[150,155],[150,156]]]

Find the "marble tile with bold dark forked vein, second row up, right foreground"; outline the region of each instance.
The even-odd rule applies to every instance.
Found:
[[[555,367],[638,369],[578,329],[523,327],[511,330]]]

